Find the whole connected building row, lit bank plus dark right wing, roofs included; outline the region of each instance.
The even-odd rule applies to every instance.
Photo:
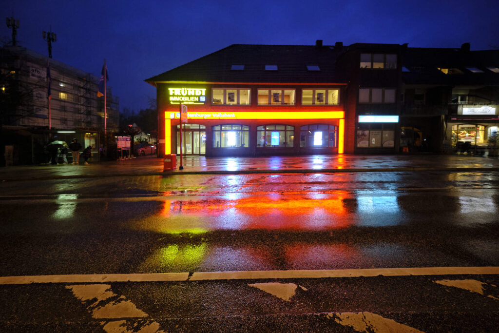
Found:
[[[310,46],[234,44],[146,80],[157,87],[159,154],[180,153],[181,103],[188,107],[187,155],[441,152],[454,135],[454,125],[447,128],[453,115],[498,117],[496,54],[407,44],[326,46],[321,40]],[[478,66],[485,75],[463,69],[459,83],[442,70],[453,63]],[[480,89],[480,100],[454,111],[462,88]],[[418,99],[422,90],[428,90],[427,104]],[[418,107],[409,104],[414,100]]]

